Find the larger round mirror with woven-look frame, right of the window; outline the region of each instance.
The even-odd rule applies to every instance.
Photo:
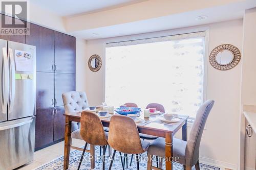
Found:
[[[209,56],[212,67],[219,70],[228,70],[238,65],[241,60],[239,49],[231,44],[222,44],[214,48]]]

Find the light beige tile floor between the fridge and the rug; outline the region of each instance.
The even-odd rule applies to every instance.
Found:
[[[83,140],[73,139],[72,145],[75,147],[82,147],[85,144]],[[72,151],[73,149],[71,149]],[[50,147],[41,149],[35,152],[34,160],[26,165],[23,165],[17,169],[19,170],[31,170],[45,164],[53,159],[56,159],[64,155],[64,141],[51,145]]]

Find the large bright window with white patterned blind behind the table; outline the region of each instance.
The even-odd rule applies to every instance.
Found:
[[[205,32],[106,44],[105,102],[195,117],[203,102]]]

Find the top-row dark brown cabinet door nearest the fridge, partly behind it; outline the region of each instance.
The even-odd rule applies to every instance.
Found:
[[[54,31],[30,23],[26,44],[36,46],[36,71],[54,72]]]

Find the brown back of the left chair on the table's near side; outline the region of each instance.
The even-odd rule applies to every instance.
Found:
[[[99,116],[90,111],[81,113],[80,135],[84,141],[93,145],[108,145]]]

